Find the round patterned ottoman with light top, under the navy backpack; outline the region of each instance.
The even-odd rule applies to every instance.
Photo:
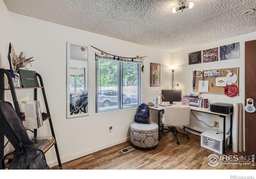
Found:
[[[130,124],[130,141],[140,148],[153,148],[158,144],[158,125],[155,122]]]

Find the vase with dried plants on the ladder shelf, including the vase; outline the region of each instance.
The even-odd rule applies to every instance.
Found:
[[[26,52],[21,52],[20,55],[16,55],[14,51],[14,47],[10,45],[11,49],[10,51],[10,66],[11,69],[10,71],[13,71],[14,75],[12,75],[12,81],[13,85],[15,88],[20,88],[21,87],[21,82],[20,82],[20,77],[18,75],[18,70],[20,68],[26,68],[28,63],[31,66],[31,62],[34,61],[32,60],[33,57],[26,58]],[[11,73],[12,74],[12,73]]]

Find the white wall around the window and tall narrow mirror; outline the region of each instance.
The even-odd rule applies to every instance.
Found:
[[[1,1],[0,1],[1,2]],[[3,5],[1,5],[1,8]],[[89,116],[66,118],[66,42],[90,44],[111,54],[136,57],[148,57],[144,60],[145,73],[143,78],[142,102],[152,101],[160,92],[161,87],[167,87],[168,72],[165,69],[170,64],[170,53],[152,49],[142,45],[113,39],[110,37],[29,18],[26,16],[7,13],[10,16],[10,39],[5,41],[7,48],[2,49],[3,56],[8,54],[8,44],[11,42],[16,54],[26,51],[26,57],[34,57],[32,67],[42,75],[50,114],[52,116],[54,132],[62,163],[88,155],[95,151],[114,146],[129,140],[130,123],[134,121],[136,108],[119,110],[115,112],[95,113],[95,87],[96,87],[96,49],[89,47]],[[161,63],[161,87],[150,87],[150,63]],[[7,58],[1,60],[1,68],[9,69]],[[33,91],[18,90],[18,98],[31,99]],[[10,94],[7,95],[11,100]],[[7,99],[6,99],[7,100]],[[40,100],[40,99],[39,99]],[[42,99],[40,100],[42,101]],[[152,114],[152,116],[154,116]],[[108,126],[113,126],[111,133]],[[48,122],[38,130],[38,135],[50,135]],[[46,153],[46,159],[51,166],[57,165],[54,148]]]

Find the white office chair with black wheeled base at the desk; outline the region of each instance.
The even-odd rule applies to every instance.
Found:
[[[177,144],[180,144],[177,133],[187,136],[187,139],[190,139],[187,134],[179,132],[175,126],[186,126],[189,124],[190,118],[190,107],[189,106],[166,106],[164,108],[163,115],[163,124],[168,125],[167,132],[162,133],[166,134],[172,132],[177,139]]]

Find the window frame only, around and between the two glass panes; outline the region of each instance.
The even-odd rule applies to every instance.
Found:
[[[98,103],[98,89],[99,89],[99,59],[106,60],[106,61],[116,61],[118,64],[118,102],[117,102],[117,108],[110,108],[106,110],[99,110],[99,103]],[[100,53],[95,53],[95,61],[96,61],[96,113],[102,113],[102,112],[110,112],[110,111],[116,111],[116,110],[123,110],[123,109],[130,109],[130,108],[137,108],[139,104],[141,104],[142,101],[142,71],[140,70],[142,67],[142,61],[117,61],[112,59],[111,57],[106,57],[105,55],[101,55]],[[123,106],[123,70],[124,70],[124,63],[136,63],[137,65],[137,105],[136,106],[130,106],[125,107]]]

